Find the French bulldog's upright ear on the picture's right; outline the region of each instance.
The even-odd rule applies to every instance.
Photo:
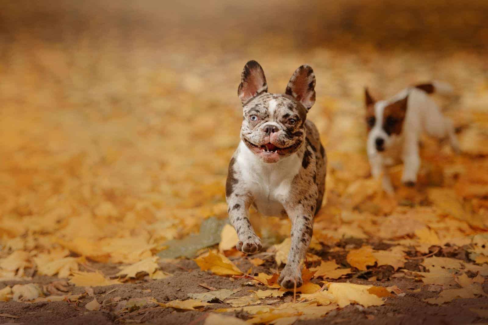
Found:
[[[315,74],[309,65],[299,67],[288,81],[285,93],[309,110],[315,103]]]

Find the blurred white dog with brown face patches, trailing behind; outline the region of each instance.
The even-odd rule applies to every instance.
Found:
[[[452,122],[428,96],[434,91],[449,93],[452,88],[434,81],[404,89],[392,98],[380,101],[375,101],[365,89],[367,155],[371,174],[375,178],[382,176],[383,189],[389,194],[394,190],[385,166],[400,160],[404,162],[402,182],[407,186],[415,185],[422,132],[439,139],[448,138],[453,150],[460,151]]]

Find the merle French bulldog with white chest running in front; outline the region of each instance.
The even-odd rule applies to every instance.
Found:
[[[291,219],[291,249],[278,279],[291,289],[302,285],[300,265],[324,197],[326,157],[316,126],[306,119],[315,103],[312,68],[299,67],[285,94],[267,89],[259,63],[247,62],[238,88],[244,108],[241,142],[230,160],[225,197],[239,237],[236,248],[244,253],[262,248],[249,222],[251,204],[263,215],[286,213]]]

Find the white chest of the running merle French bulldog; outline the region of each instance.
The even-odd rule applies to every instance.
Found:
[[[289,197],[293,178],[300,171],[298,155],[293,154],[276,163],[265,163],[241,142],[236,163],[258,211],[265,216],[280,215],[284,210],[283,202]]]

